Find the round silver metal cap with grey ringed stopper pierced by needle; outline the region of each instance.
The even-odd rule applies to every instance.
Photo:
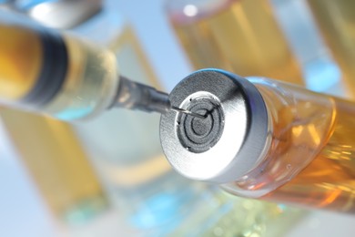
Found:
[[[241,178],[262,160],[268,112],[259,90],[243,77],[204,69],[182,80],[169,95],[160,120],[161,145],[177,172],[192,180],[224,183]]]

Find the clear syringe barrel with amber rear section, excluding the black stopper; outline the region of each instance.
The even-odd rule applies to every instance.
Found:
[[[22,98],[35,88],[46,60],[41,30],[0,23],[0,100],[65,120],[87,118],[109,107],[117,91],[116,57],[70,36],[64,36],[68,68],[63,86],[43,106],[25,103]]]

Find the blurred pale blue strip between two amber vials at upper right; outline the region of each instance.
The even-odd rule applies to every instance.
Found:
[[[344,97],[340,69],[330,57],[306,2],[273,0],[272,3],[279,25],[302,66],[307,88]]]

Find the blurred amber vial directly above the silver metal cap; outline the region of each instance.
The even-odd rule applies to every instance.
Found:
[[[268,0],[169,0],[166,7],[195,69],[304,84]]]

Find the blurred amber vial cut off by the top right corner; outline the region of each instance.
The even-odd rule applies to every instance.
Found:
[[[320,32],[339,64],[343,79],[355,97],[355,1],[308,0]]]

